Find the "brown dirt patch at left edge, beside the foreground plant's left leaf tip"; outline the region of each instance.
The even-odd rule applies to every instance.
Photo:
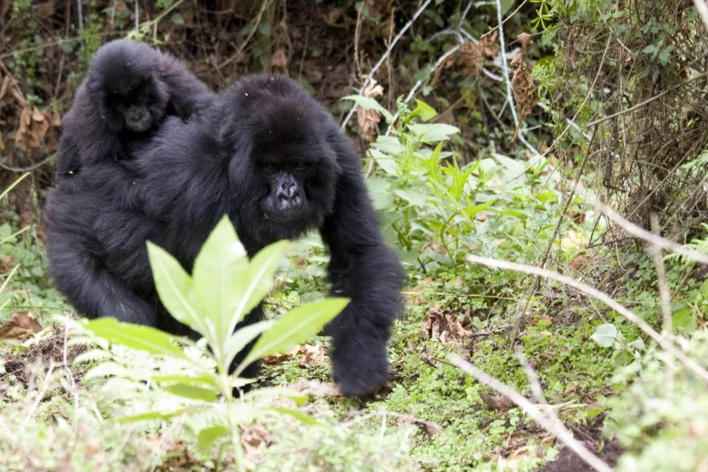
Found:
[[[17,382],[22,383],[26,389],[33,378],[36,366],[42,365],[44,370],[48,370],[50,365],[64,366],[71,369],[71,363],[77,355],[86,350],[85,346],[77,345],[66,349],[66,359],[64,359],[64,328],[54,326],[52,335],[42,339],[36,345],[26,349],[17,355],[8,355],[5,358],[5,378],[14,375]],[[74,378],[80,377],[79,372],[73,372]]]

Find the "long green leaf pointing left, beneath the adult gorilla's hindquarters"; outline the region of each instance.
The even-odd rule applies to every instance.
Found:
[[[151,326],[120,323],[116,318],[103,317],[91,320],[86,324],[86,328],[111,343],[191,361],[184,351],[173,343],[175,336],[167,335]]]

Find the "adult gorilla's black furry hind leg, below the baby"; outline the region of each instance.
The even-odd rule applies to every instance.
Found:
[[[52,189],[47,208],[47,257],[54,284],[83,315],[115,316],[121,321],[156,326],[156,313],[104,265],[94,237],[97,195]]]

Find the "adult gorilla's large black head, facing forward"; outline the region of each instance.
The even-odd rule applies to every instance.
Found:
[[[335,121],[284,76],[241,80],[222,105],[240,231],[265,244],[318,228],[332,211],[340,173],[332,147],[341,135]]]

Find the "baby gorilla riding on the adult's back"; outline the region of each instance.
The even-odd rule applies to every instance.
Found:
[[[130,158],[165,116],[186,120],[214,97],[173,56],[129,40],[106,43],[64,117],[56,181],[91,163]]]

